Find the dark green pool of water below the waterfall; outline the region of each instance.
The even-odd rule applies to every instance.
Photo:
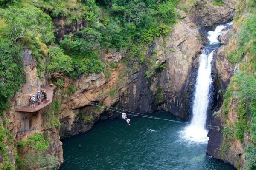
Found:
[[[154,113],[164,119],[177,118]],[[61,170],[234,170],[206,155],[207,144],[180,139],[186,125],[142,117],[99,122],[63,141]],[[155,132],[149,131],[155,130]]]

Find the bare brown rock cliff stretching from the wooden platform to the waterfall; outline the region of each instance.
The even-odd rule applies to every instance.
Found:
[[[206,17],[205,10],[208,11]],[[189,104],[193,96],[198,54],[204,42],[201,36],[205,35],[205,30],[215,24],[231,20],[233,10],[223,6],[208,6],[202,1],[193,7],[189,14],[181,11],[179,13],[181,19],[172,27],[172,31],[166,37],[155,39],[153,45],[148,47],[147,60],[151,65],[161,68],[155,69],[150,78],[145,77],[145,71],[152,69],[151,66],[142,64],[138,68],[133,68],[133,65],[122,63],[122,56],[126,55],[126,51],[110,53],[102,51],[106,62],[118,62],[116,67],[105,68],[102,73],[84,74],[76,80],[69,79],[64,74],[53,75],[51,81],[54,82],[57,78],[64,81],[64,86],[56,90],[54,97],[61,101],[57,115],[61,124],[59,129],[49,120],[52,118],[47,116],[46,112],[51,112],[50,107],[36,113],[14,111],[17,105],[27,105],[28,103],[24,101],[27,101],[28,94],[35,94],[47,81],[38,78],[36,62],[31,52],[25,50],[23,56],[27,82],[12,99],[11,111],[6,112],[8,129],[14,135],[15,142],[20,139],[26,141],[34,132],[41,132],[51,139],[47,153],[58,157],[61,164],[63,157],[60,138],[85,132],[99,120],[120,117],[119,113],[106,108],[118,107],[138,113],[168,111],[175,116],[189,118]],[[61,39],[63,34],[85,24],[79,23],[72,28],[66,28],[61,25],[62,21],[56,21],[58,23],[56,28],[59,28],[57,40]],[[200,35],[201,32],[204,33]],[[225,37],[222,39],[225,44]],[[152,49],[156,49],[157,52],[153,54]],[[219,57],[216,59],[216,68],[223,75],[221,87],[225,88],[233,71],[221,48],[217,53]],[[69,92],[70,87],[75,90]],[[67,94],[69,97],[65,96]],[[93,103],[103,107],[95,106]],[[23,155],[26,151],[26,149],[21,150],[20,154]],[[213,153],[209,154],[215,156]],[[10,157],[13,163],[11,149]]]

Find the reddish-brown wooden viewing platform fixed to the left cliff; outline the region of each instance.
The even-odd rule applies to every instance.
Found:
[[[41,102],[40,105],[37,104],[37,102],[35,103],[35,108],[31,108],[30,106],[24,106],[24,107],[17,107],[15,109],[15,111],[20,111],[20,112],[37,112],[39,110],[41,110],[42,108],[48,106],[51,102],[52,102],[52,97],[53,97],[53,90],[56,88],[55,85],[49,85],[46,84],[45,85],[45,91],[47,94],[47,103],[43,103]],[[35,98],[36,98],[36,94],[35,94]],[[43,98],[43,95],[41,94],[41,99]],[[29,99],[29,96],[28,96]]]

